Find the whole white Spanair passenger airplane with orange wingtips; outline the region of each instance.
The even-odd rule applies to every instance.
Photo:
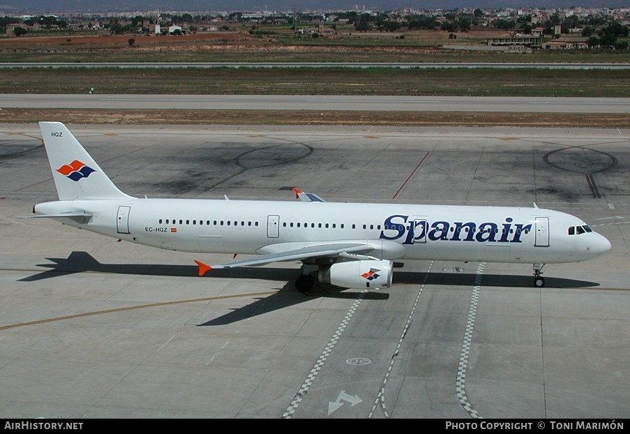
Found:
[[[400,260],[545,264],[591,260],[610,242],[583,220],[550,209],[435,204],[326,202],[294,188],[299,202],[153,199],[126,195],[60,122],[40,122],[59,200],[29,218],[135,244],[194,253],[255,255],[210,269],[302,262],[295,287],[391,287]]]

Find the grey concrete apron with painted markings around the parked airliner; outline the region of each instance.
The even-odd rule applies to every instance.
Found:
[[[295,263],[200,278],[231,255],[17,218],[57,197],[38,126],[0,125],[0,417],[630,416],[630,130],[69,128],[130,195],[536,202],[613,248],[543,288],[444,261],[372,292],[301,294]]]

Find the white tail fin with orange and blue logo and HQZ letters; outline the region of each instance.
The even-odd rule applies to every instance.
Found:
[[[40,122],[59,200],[130,197],[114,185],[75,136],[61,122]]]

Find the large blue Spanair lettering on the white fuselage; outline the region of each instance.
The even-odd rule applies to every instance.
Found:
[[[385,219],[383,227],[380,239],[397,240],[407,245],[426,242],[426,238],[431,241],[522,243],[521,237],[532,230],[532,223],[513,223],[513,218],[506,217],[503,223],[485,222],[477,225],[472,221],[450,223],[438,220],[429,224],[427,220],[410,220],[409,216],[394,214]]]

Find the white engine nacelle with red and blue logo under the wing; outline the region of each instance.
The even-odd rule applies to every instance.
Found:
[[[346,288],[373,290],[390,287],[393,262],[388,260],[336,262],[330,267],[320,267],[317,277],[322,283]]]

